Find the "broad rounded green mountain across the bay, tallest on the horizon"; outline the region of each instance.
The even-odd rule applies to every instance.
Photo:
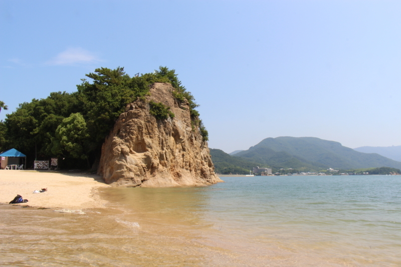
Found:
[[[378,154],[366,154],[342,146],[338,142],[315,137],[266,138],[248,150],[236,153],[250,161],[282,168],[356,169],[392,167],[401,169],[401,162]]]

